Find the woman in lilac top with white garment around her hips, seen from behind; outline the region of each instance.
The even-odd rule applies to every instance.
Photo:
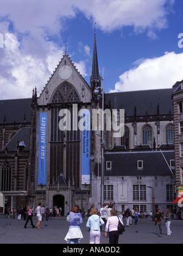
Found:
[[[78,244],[79,241],[83,238],[81,229],[79,227],[82,224],[82,216],[81,213],[78,213],[79,206],[75,205],[69,214],[70,218],[70,227],[68,233],[65,236],[65,241],[68,243],[68,239],[70,239],[70,244]]]

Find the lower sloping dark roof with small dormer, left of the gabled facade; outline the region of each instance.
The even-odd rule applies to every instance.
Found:
[[[8,151],[16,151],[18,142],[19,145],[25,145],[24,150],[29,151],[29,136],[30,136],[30,127],[23,127],[12,137],[12,139],[7,143],[1,151],[5,151],[7,148]]]

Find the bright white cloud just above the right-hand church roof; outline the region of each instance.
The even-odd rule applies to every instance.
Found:
[[[182,80],[183,53],[166,52],[159,58],[140,59],[134,65],[120,75],[110,92],[172,88],[176,81]]]

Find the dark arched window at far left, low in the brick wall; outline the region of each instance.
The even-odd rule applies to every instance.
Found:
[[[2,166],[1,191],[11,190],[11,167],[9,162],[5,162]]]

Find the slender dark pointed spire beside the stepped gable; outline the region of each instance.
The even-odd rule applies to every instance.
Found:
[[[96,24],[96,23],[95,23]],[[101,87],[101,77],[98,69],[98,56],[96,51],[96,32],[94,33],[94,46],[93,46],[93,64],[90,77],[91,89]]]

